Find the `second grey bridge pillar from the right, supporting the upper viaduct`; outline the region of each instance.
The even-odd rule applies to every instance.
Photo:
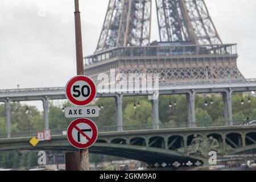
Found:
[[[196,92],[193,90],[187,94],[188,127],[196,127]]]

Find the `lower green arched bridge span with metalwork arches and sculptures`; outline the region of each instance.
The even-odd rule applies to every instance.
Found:
[[[209,156],[203,152],[193,153],[192,140],[197,134],[205,142],[210,143],[213,137],[218,141],[220,156],[237,154],[256,147],[256,126],[246,126],[245,122],[234,122],[234,126],[214,126],[213,122],[197,123],[196,128],[187,128],[186,123],[179,125],[159,125],[160,129],[152,129],[152,125],[124,126],[124,131],[117,131],[117,126],[100,127],[96,144],[90,147],[94,154],[114,155],[123,158],[140,160],[154,165],[158,163],[173,164],[195,163],[197,160],[208,163]],[[63,130],[51,130],[52,140],[39,142],[31,146],[29,140],[36,137],[36,131],[0,134],[0,151],[6,150],[75,150],[63,135]],[[190,151],[190,154],[189,154]],[[138,155],[139,154],[139,155]]]

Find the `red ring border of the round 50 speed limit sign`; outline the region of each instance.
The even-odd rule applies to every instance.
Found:
[[[71,94],[71,86],[77,81],[85,81],[85,82],[88,82],[88,84],[90,85],[91,94],[84,101],[76,100],[75,98],[73,98],[73,96]],[[86,105],[90,104],[90,102],[92,102],[94,100],[94,98],[96,97],[96,85],[94,84],[94,81],[89,77],[86,77],[84,75],[75,76],[75,77],[71,78],[71,80],[68,81],[68,84],[66,85],[66,88],[65,88],[65,94],[66,94],[66,97],[68,98],[68,100],[72,102],[72,104],[75,104],[77,106],[86,106]]]

